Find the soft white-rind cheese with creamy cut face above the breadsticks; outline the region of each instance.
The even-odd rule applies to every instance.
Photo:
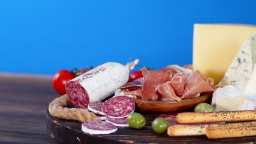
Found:
[[[213,93],[215,111],[256,110],[256,95],[245,92],[245,85],[219,87]]]

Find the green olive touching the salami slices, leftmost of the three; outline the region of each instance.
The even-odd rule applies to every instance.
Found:
[[[140,113],[133,112],[126,118],[131,128],[141,129],[146,125],[146,119]]]

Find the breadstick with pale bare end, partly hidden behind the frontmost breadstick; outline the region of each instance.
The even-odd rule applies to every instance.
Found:
[[[206,129],[209,127],[241,127],[241,125],[249,126],[256,125],[253,122],[239,122],[239,123],[218,123],[218,124],[177,124],[168,127],[167,134],[169,136],[195,136],[206,135]]]

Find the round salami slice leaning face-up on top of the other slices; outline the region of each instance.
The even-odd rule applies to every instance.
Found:
[[[134,100],[126,96],[110,98],[102,105],[102,111],[110,118],[124,118],[134,110]]]

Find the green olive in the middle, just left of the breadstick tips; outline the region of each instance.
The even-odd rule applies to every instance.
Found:
[[[152,128],[158,134],[165,133],[169,125],[170,125],[169,122],[162,117],[156,118],[152,122]]]

